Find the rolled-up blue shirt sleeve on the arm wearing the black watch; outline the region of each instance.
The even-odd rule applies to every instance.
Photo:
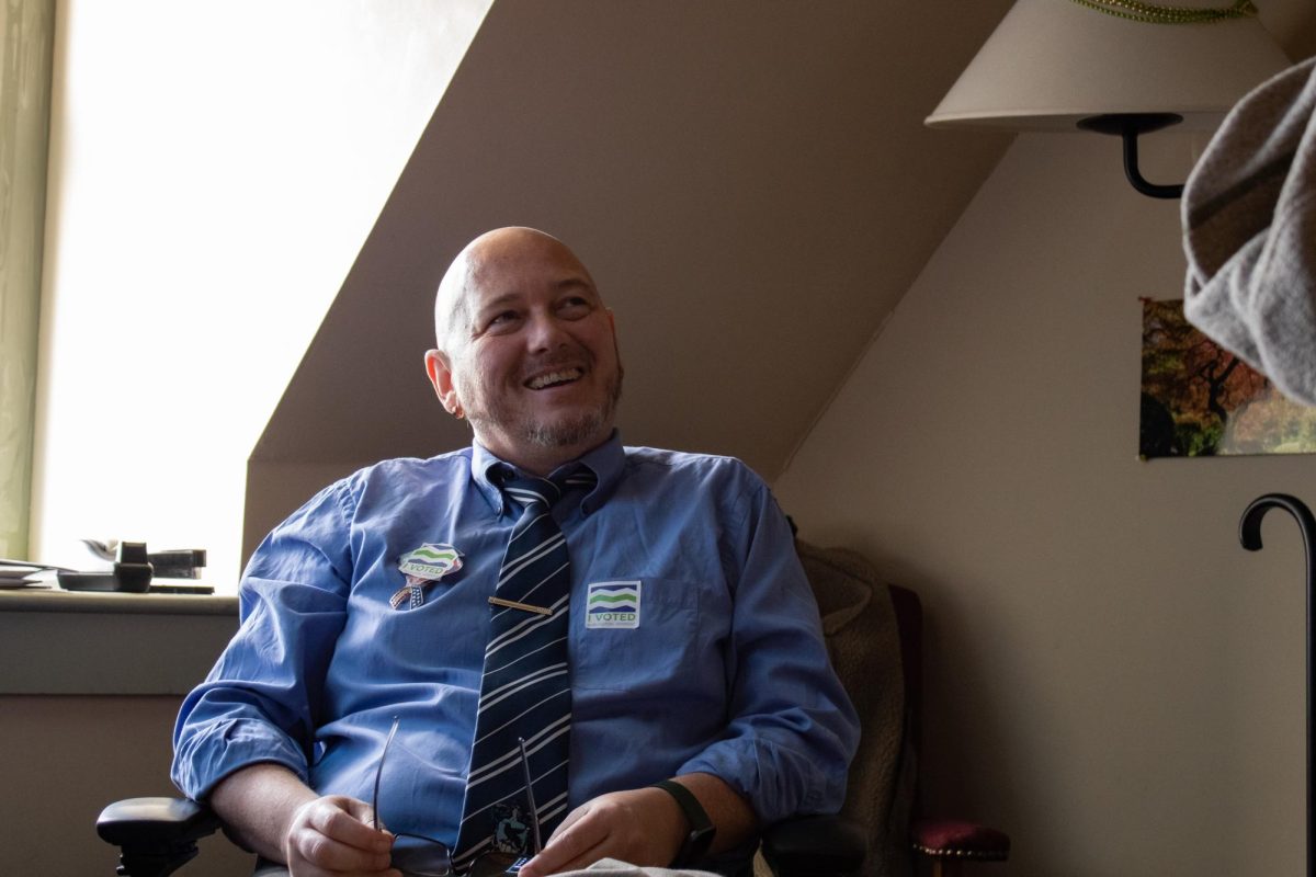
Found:
[[[734,588],[729,723],[678,774],[720,777],[771,824],[840,810],[859,722],[828,659],[790,525],[765,485],[750,497],[741,526],[724,533]]]

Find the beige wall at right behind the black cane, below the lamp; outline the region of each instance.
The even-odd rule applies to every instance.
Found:
[[[1316,460],[1137,459],[1138,297],[1183,271],[1113,139],[1020,137],[775,485],[923,594],[925,792],[1012,834],[990,873],[1303,868],[1302,544],[1237,522]]]

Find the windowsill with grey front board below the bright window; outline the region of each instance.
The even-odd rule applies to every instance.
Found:
[[[0,694],[186,694],[237,613],[234,596],[0,590]]]

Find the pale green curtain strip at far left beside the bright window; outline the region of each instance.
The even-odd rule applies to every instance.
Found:
[[[0,0],[0,557],[28,556],[55,0]]]

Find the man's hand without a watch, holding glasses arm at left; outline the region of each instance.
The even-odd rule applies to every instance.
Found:
[[[390,868],[393,838],[371,827],[363,801],[328,795],[308,801],[292,814],[283,841],[292,877],[400,877]]]

